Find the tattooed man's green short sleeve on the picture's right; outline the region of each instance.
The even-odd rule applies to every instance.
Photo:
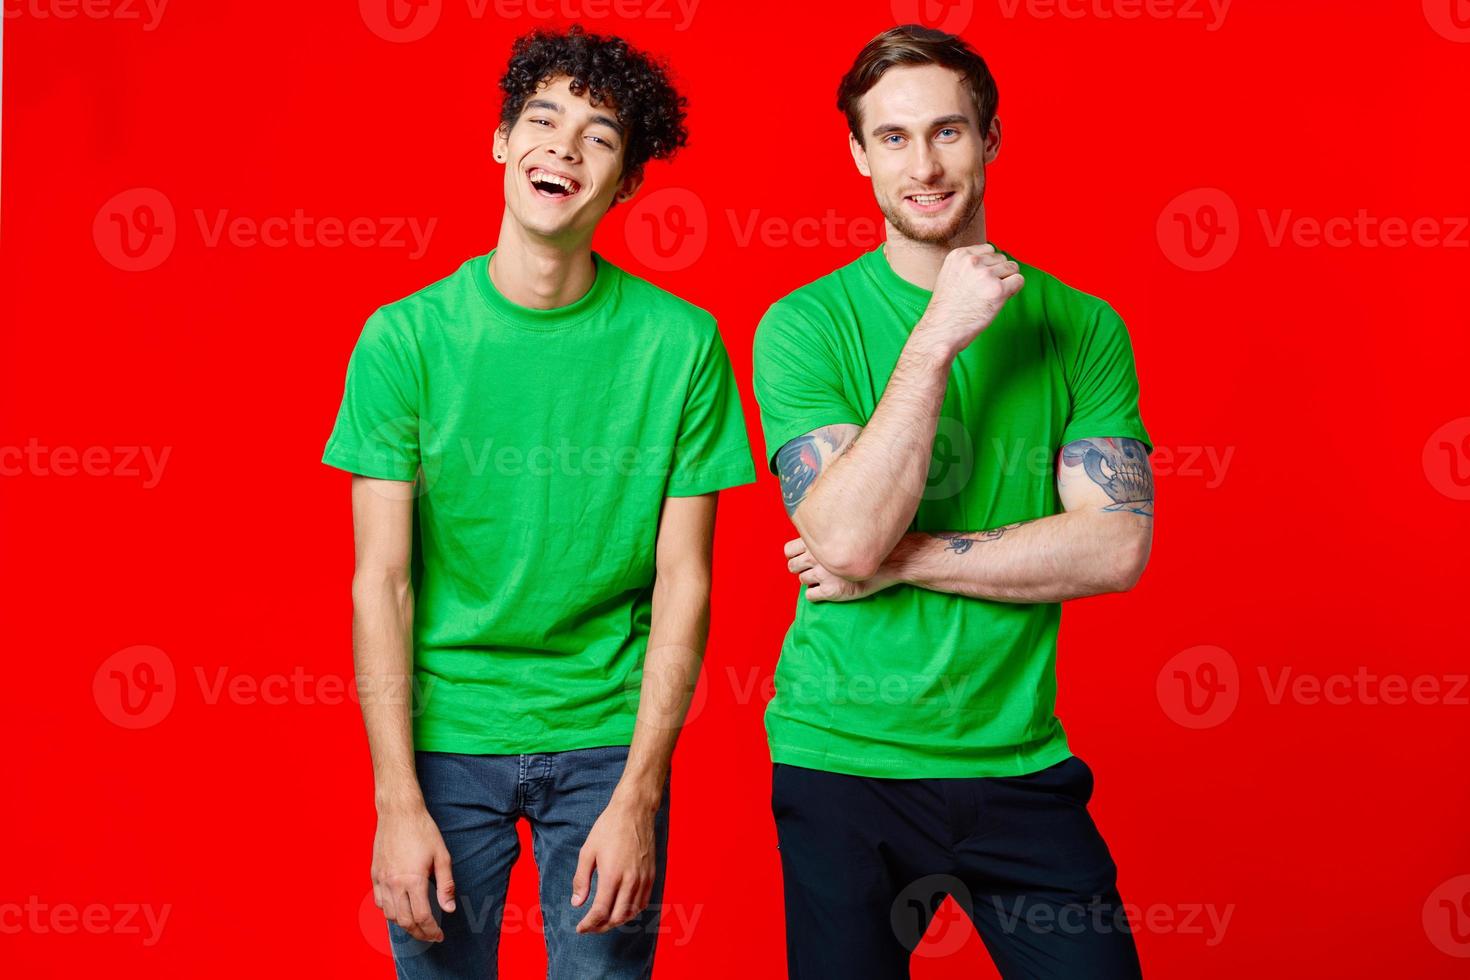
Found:
[[[1127,328],[1113,307],[1101,303],[1089,329],[1082,335],[1067,385],[1072,414],[1061,442],[1116,436],[1138,439],[1154,451],[1154,441],[1138,413],[1138,370]]]

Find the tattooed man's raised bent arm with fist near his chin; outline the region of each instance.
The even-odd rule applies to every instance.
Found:
[[[825,426],[776,454],[786,513],[826,569],[872,577],[913,522],[954,357],[1022,285],[991,245],[951,251],[867,425]]]

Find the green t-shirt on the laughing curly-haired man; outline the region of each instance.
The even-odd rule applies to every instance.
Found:
[[[420,475],[415,748],[628,745],[666,497],[756,479],[714,319],[595,256],[513,304],[490,256],[379,309],[322,461]]]

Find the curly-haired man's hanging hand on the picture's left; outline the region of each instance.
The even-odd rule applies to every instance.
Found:
[[[440,908],[454,911],[454,877],[450,852],[423,805],[378,815],[372,842],[372,898],[384,918],[403,926],[423,942],[442,942],[429,907],[429,874],[438,886]]]

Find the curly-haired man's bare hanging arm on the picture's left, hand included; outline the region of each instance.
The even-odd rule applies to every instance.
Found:
[[[445,911],[454,880],[413,767],[413,483],[353,476],[353,663],[378,807],[373,901],[416,939],[438,942],[429,876]]]

